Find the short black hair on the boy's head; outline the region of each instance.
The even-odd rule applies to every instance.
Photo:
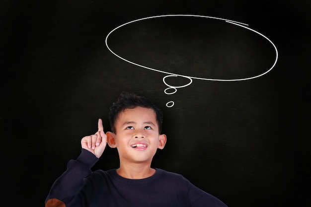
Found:
[[[112,104],[109,112],[109,123],[111,132],[116,133],[116,122],[121,112],[125,109],[134,109],[136,107],[153,109],[156,113],[156,121],[159,134],[162,131],[163,113],[150,99],[144,96],[138,96],[135,93],[122,92],[116,102]]]

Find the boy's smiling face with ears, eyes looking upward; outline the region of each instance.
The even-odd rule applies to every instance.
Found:
[[[136,107],[125,109],[116,121],[116,134],[108,136],[110,147],[117,147],[120,162],[152,161],[157,148],[163,149],[166,136],[159,135],[153,109]]]

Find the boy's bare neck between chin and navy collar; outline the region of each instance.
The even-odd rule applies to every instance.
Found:
[[[131,165],[122,165],[117,169],[118,175],[128,179],[144,179],[151,177],[156,173],[156,170],[150,165],[142,163],[132,163]]]

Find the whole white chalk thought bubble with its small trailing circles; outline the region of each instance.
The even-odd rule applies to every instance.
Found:
[[[193,14],[150,16],[124,23],[108,33],[105,44],[123,61],[166,74],[165,94],[176,93],[193,79],[254,79],[271,71],[278,60],[273,42],[247,24]],[[172,77],[186,83],[167,83]],[[166,103],[167,107],[173,105],[173,101]]]

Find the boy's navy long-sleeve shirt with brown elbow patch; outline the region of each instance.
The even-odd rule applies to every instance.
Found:
[[[115,169],[91,171],[96,158],[82,149],[54,182],[46,207],[227,207],[183,176],[156,168],[145,179],[127,179]]]

